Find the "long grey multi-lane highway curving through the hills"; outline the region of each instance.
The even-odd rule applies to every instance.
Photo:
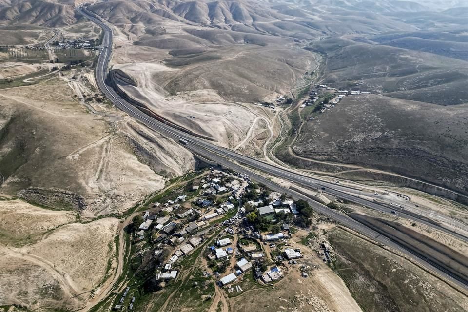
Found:
[[[244,165],[259,169],[273,176],[280,176],[281,178],[289,179],[295,183],[302,184],[307,187],[313,187],[313,188],[322,187],[322,186],[326,187],[327,193],[331,195],[335,195],[337,197],[347,199],[347,200],[350,200],[352,202],[355,202],[361,205],[365,205],[372,209],[390,213],[390,210],[391,210],[390,208],[378,205],[376,203],[370,202],[363,198],[358,198],[356,196],[348,195],[346,193],[335,190],[334,189],[334,187],[336,187],[335,184],[313,179],[308,176],[298,175],[292,171],[288,171],[279,167],[275,167],[270,164],[264,163],[262,161],[256,160],[254,158],[250,158],[247,156],[237,154],[223,147],[215,146],[213,144],[207,143],[196,137],[190,136],[190,138],[188,138],[189,136],[186,133],[178,131],[162,122],[156,121],[155,119],[147,116],[146,114],[138,110],[135,106],[128,103],[123,98],[120,98],[120,96],[117,95],[115,90],[112,87],[106,85],[105,83],[105,79],[107,77],[107,65],[109,63],[109,59],[111,58],[111,54],[112,54],[112,30],[109,28],[109,26],[103,23],[100,19],[96,18],[94,14],[88,11],[85,11],[81,7],[78,7],[77,10],[86,18],[98,24],[98,26],[101,27],[102,30],[104,31],[104,36],[102,40],[102,49],[101,49],[101,53],[99,54],[97,66],[95,69],[96,82],[98,84],[99,90],[102,93],[104,93],[107,96],[107,98],[109,98],[109,100],[111,100],[119,109],[126,112],[128,115],[136,118],[140,122],[144,123],[150,129],[160,132],[167,137],[170,137],[176,141],[180,138],[184,138],[186,141],[188,141],[188,143],[185,146],[188,149],[192,150],[193,152],[201,156],[205,156],[207,158],[213,159],[218,164],[223,165],[227,168],[231,168],[232,170],[235,170],[239,173],[250,175],[253,180],[265,184],[267,187],[269,187],[273,191],[276,191],[279,193],[287,193],[289,195],[292,195],[294,199],[307,200],[311,204],[312,208],[316,210],[317,212],[319,212],[320,214],[326,215],[327,217],[339,223],[342,223],[343,225],[353,229],[354,231],[360,234],[363,234],[367,237],[370,237],[374,241],[377,241],[383,245],[386,245],[392,249],[399,251],[402,254],[409,256],[415,262],[425,267],[428,271],[436,275],[443,276],[447,280],[451,281],[452,283],[468,291],[468,284],[466,284],[465,281],[458,280],[456,277],[448,273],[444,268],[438,267],[437,265],[433,263],[427,262],[424,258],[421,258],[420,256],[411,253],[409,250],[402,248],[401,246],[391,241],[387,237],[380,235],[379,233],[368,228],[367,226],[349,218],[348,216],[338,213],[334,210],[331,210],[327,206],[322,205],[316,201],[310,200],[310,198],[308,198],[305,195],[299,194],[297,192],[292,191],[291,189],[287,189],[276,183],[273,183],[269,179],[266,179],[262,176],[257,176],[256,174],[252,173],[248,169],[241,167],[240,165],[222,156],[229,157]],[[402,216],[405,216],[409,219],[416,219],[410,215],[405,215],[404,212],[402,212]],[[423,220],[420,220],[420,219],[416,219],[416,220],[418,222],[424,223]],[[435,227],[434,224],[429,223],[429,222],[427,222],[427,225],[429,225],[430,227]],[[445,230],[446,232],[449,232],[450,234],[454,234],[453,232],[448,231],[444,228],[441,228],[441,230]],[[464,236],[461,236],[461,238],[466,240],[466,237]]]

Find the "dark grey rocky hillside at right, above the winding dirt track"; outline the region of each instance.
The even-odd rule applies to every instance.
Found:
[[[292,149],[299,156],[387,170],[468,194],[467,132],[466,104],[350,96],[308,121]]]

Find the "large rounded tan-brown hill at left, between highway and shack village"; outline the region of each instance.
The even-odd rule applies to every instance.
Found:
[[[172,141],[156,136],[160,142],[144,143],[146,130],[129,129],[129,119],[92,100],[93,81],[75,74],[60,73],[38,85],[1,91],[1,192],[58,209],[78,209],[87,216],[112,214],[161,189],[164,176],[193,168],[190,154],[173,147]],[[90,114],[93,105],[98,110]],[[172,163],[141,163],[139,159],[154,157],[147,148],[156,154],[164,150],[154,159]]]

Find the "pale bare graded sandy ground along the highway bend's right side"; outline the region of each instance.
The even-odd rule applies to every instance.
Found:
[[[169,96],[152,78],[158,72],[176,73],[176,70],[162,64],[131,63],[115,68],[123,70],[137,81],[137,88],[124,87],[129,94],[145,101],[156,113],[196,133],[213,137],[224,146],[242,145],[246,137],[250,137],[252,126],[260,124],[255,120],[270,122],[274,116],[270,109],[252,103],[226,102],[213,90],[202,89]],[[265,124],[259,128],[268,131],[265,138],[270,136],[270,129]],[[261,150],[262,146],[260,144],[257,149]]]

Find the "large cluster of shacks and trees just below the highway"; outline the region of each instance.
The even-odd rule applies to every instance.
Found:
[[[227,292],[243,292],[248,280],[274,283],[286,274],[284,263],[296,265],[303,257],[289,240],[294,225],[309,222],[308,204],[255,185],[249,176],[219,170],[184,191],[151,203],[133,220],[133,244],[150,244],[156,284],[175,280],[183,270],[179,262],[199,248],[206,262],[203,275]],[[308,276],[305,266],[301,271]],[[131,310],[133,298],[124,292],[114,309]]]

